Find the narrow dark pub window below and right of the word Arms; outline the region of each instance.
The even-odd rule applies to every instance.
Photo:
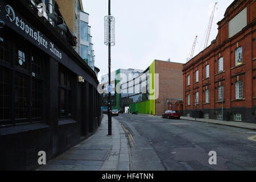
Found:
[[[59,117],[60,119],[73,118],[73,76],[67,69],[60,68],[59,85]]]

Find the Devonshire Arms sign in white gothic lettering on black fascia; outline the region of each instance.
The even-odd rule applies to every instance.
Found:
[[[5,22],[6,26],[11,27],[18,32],[18,34],[30,40],[49,55],[59,60],[63,58],[63,53],[51,42],[51,40],[44,36],[42,32],[38,31],[37,28],[29,24],[26,19],[22,18],[13,7],[5,5],[3,0],[0,1],[0,19]]]

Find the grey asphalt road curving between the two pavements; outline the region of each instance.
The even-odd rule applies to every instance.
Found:
[[[129,139],[132,170],[256,170],[254,130],[146,115],[114,118]],[[209,164],[210,151],[216,165]]]

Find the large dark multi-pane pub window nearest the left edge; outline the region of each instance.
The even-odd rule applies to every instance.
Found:
[[[0,36],[1,58],[2,53],[6,53],[6,45],[15,49],[13,59],[9,60],[13,64],[8,68],[7,64],[1,64],[0,68],[0,125],[42,121],[44,56],[35,49],[27,49],[29,45],[23,39],[15,38],[12,45],[11,39],[6,44],[3,38],[5,36]]]

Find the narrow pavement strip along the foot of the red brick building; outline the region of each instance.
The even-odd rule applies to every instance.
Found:
[[[213,123],[213,124],[216,124],[216,125],[233,126],[233,127],[239,127],[241,129],[256,130],[256,124],[254,124],[254,123],[221,121],[221,120],[216,120],[216,119],[202,119],[202,118],[195,119],[195,118],[183,117],[183,116],[181,116],[180,119],[185,119],[185,120],[190,120],[190,121],[197,121],[197,122],[205,122],[205,123]]]

